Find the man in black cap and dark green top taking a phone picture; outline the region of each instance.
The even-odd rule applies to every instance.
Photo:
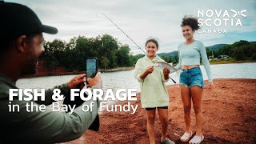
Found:
[[[56,34],[58,30],[42,25],[33,10],[18,3],[0,1],[0,18],[0,126],[3,131],[0,143],[57,143],[82,136],[98,115],[98,102],[93,99],[82,103],[94,102],[92,110],[83,111],[82,106],[78,106],[72,114],[51,109],[27,112],[27,102],[18,98],[12,103],[20,107],[19,112],[8,110],[9,90],[18,89],[15,82],[36,73],[38,58],[44,51],[42,33]],[[54,89],[68,95],[70,89],[84,86],[85,77],[86,74],[79,74]],[[93,89],[102,88],[100,73],[87,81]],[[38,103],[50,105],[52,90],[46,90],[46,101]]]

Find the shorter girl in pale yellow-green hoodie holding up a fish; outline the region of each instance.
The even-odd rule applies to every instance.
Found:
[[[150,143],[154,143],[154,122],[156,110],[158,110],[159,119],[162,125],[162,143],[174,143],[166,138],[168,128],[168,105],[169,95],[166,90],[166,84],[169,80],[170,70],[165,67],[163,70],[154,69],[154,62],[164,62],[156,52],[158,51],[158,42],[155,39],[146,41],[146,56],[138,59],[135,66],[134,76],[140,82],[141,103],[146,109],[147,131]]]

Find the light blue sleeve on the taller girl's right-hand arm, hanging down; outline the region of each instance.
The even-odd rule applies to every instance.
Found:
[[[213,82],[213,78],[212,78],[212,74],[211,74],[211,70],[210,70],[210,62],[209,62],[209,60],[207,58],[207,54],[206,54],[206,46],[204,46],[202,42],[200,42],[200,45],[199,45],[199,52],[200,52],[200,55],[202,58],[202,64],[206,69],[208,81]]]

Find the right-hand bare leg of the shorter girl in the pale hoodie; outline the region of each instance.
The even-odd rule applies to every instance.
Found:
[[[166,133],[168,130],[168,109],[158,109],[159,119],[161,122],[162,130],[162,141],[166,141]]]

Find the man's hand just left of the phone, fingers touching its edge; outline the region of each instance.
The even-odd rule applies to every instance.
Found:
[[[78,76],[72,78],[70,82],[67,82],[67,87],[69,89],[74,89],[74,88],[80,88],[82,89],[85,86],[86,82],[86,74],[79,74]]]

